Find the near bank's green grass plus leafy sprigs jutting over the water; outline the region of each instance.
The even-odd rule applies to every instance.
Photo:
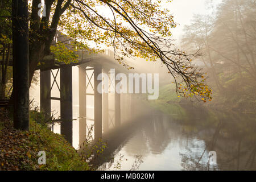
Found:
[[[43,170],[92,170],[89,163],[97,160],[107,147],[101,138],[93,140],[93,125],[86,134],[79,152],[69,144],[62,135],[52,133],[48,126],[54,121],[53,116],[46,118],[45,114],[35,107],[30,114],[30,139],[40,150],[46,151],[47,164],[40,166]],[[39,137],[40,136],[40,137]]]

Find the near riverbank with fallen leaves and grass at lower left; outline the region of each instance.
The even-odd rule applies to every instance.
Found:
[[[31,114],[33,117],[33,114]],[[30,131],[14,129],[6,110],[0,113],[0,171],[90,170],[88,163],[60,134],[30,118]],[[38,164],[38,152],[46,152],[46,164]]]

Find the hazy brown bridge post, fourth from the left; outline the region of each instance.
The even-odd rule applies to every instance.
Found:
[[[101,65],[94,66],[94,140],[102,138],[102,94],[98,92],[98,84],[101,80],[97,80],[101,73]]]

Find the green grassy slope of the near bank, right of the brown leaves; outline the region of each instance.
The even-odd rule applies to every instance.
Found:
[[[36,150],[46,152],[46,165],[41,170],[88,170],[88,164],[81,159],[75,148],[62,135],[52,133],[31,119],[30,142]]]

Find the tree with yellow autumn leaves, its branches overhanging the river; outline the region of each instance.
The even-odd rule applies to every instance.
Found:
[[[171,2],[171,1],[167,1]],[[173,16],[153,1],[46,0],[45,16],[38,16],[40,0],[30,1],[30,82],[40,60],[50,53],[57,28],[74,40],[74,46],[88,48],[88,42],[113,46],[115,59],[130,68],[123,56],[162,61],[174,77],[181,96],[210,97],[204,73],[191,63],[196,54],[187,55],[174,48],[171,28]],[[100,13],[100,9],[110,15]]]

